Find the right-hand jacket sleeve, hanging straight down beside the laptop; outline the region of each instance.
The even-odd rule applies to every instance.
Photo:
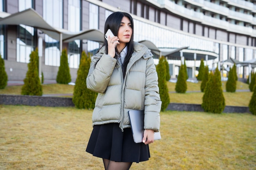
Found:
[[[144,129],[159,131],[161,105],[157,72],[153,57],[150,57],[146,64]]]

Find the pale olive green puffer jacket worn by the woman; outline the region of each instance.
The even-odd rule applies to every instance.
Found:
[[[86,79],[87,87],[98,92],[92,125],[119,123],[123,130],[130,127],[129,110],[145,110],[144,129],[158,132],[162,102],[157,79],[153,54],[145,45],[135,42],[124,79],[119,62],[102,47]]]

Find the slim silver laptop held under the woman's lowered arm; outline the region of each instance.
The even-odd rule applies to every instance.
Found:
[[[144,110],[128,111],[130,124],[132,126],[132,135],[135,143],[141,143],[144,133]],[[161,139],[160,132],[155,132],[154,140]]]

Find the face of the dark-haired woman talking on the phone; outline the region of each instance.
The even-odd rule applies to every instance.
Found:
[[[130,42],[132,37],[132,24],[130,23],[129,18],[123,17],[117,37],[119,38],[120,44]]]

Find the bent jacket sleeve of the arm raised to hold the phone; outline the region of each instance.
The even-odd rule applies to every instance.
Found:
[[[107,54],[103,54],[101,57],[99,54],[95,55],[86,78],[87,88],[98,93],[104,93],[116,63],[117,60]]]

